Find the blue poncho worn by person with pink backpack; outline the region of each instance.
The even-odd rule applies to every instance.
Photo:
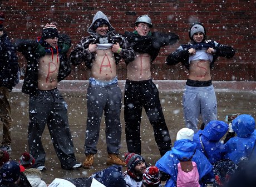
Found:
[[[195,153],[195,154],[194,154]],[[196,150],[196,143],[189,139],[181,139],[175,141],[173,148],[166,152],[165,155],[160,158],[155,166],[159,168],[160,171],[163,171],[166,174],[169,174],[171,177],[166,181],[166,187],[175,187],[178,174],[177,164],[180,162],[179,159],[190,158],[194,154],[192,161],[195,161],[198,166],[198,173],[200,179],[205,175],[213,173],[213,166],[209,160],[205,157],[201,151]]]

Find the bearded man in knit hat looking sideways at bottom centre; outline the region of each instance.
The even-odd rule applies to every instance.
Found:
[[[141,155],[136,153],[126,153],[125,163],[127,170],[123,173],[126,186],[141,187],[143,174],[146,170],[146,163]]]

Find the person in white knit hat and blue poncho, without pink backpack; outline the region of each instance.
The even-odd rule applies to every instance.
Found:
[[[169,175],[166,181],[166,187],[175,187],[178,175],[178,163],[183,158],[191,158],[198,167],[200,176],[200,185],[203,186],[206,181],[214,179],[213,165],[209,162],[206,156],[196,149],[196,143],[193,142],[194,131],[189,128],[180,129],[177,133],[177,138],[173,148],[166,152],[160,158],[155,166],[159,168],[162,176]],[[194,155],[193,155],[194,154]],[[166,178],[165,178],[166,179]],[[161,177],[161,180],[165,180]]]

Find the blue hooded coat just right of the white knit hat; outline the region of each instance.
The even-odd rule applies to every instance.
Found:
[[[220,139],[227,131],[228,124],[219,120],[213,120],[205,126],[204,130],[199,130],[194,135],[193,141],[196,143],[196,149],[200,150],[209,159],[211,164],[224,159],[225,145],[220,143]]]

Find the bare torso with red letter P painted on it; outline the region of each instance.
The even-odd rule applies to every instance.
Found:
[[[51,90],[57,88],[60,58],[57,54],[46,54],[39,60],[38,89]]]

